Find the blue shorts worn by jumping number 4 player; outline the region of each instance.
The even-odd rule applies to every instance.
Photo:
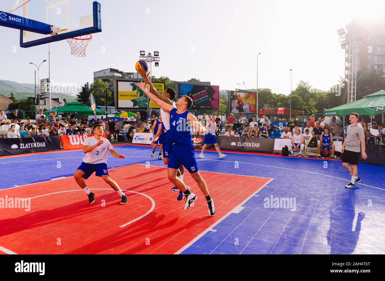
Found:
[[[198,164],[196,163],[195,150],[192,144],[182,146],[172,145],[171,157],[167,167],[178,169],[181,164],[190,174],[198,172]]]

